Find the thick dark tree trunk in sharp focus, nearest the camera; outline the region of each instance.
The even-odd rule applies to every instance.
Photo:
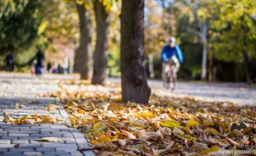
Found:
[[[148,104],[144,67],[144,0],[123,0],[121,15],[122,101]]]

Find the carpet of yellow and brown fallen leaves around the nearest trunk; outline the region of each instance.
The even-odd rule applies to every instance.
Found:
[[[155,94],[149,105],[122,104],[118,85],[80,84],[75,91],[62,85],[46,96],[61,99],[70,126],[80,128],[97,155],[215,155],[255,149],[255,106]]]

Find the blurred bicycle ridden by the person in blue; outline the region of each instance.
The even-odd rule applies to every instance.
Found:
[[[176,82],[176,65],[174,62],[169,62],[165,67],[165,80],[164,80],[164,87],[166,89],[171,89],[174,91],[175,82]]]

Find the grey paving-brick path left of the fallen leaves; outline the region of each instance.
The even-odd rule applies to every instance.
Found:
[[[68,114],[61,105],[50,113],[44,110],[50,103],[58,104],[58,99],[40,98],[36,94],[57,91],[60,79],[68,78],[64,75],[43,75],[38,79],[31,74],[0,73],[0,121],[4,118],[3,111],[8,111],[12,118],[37,113],[67,119]],[[15,109],[16,103],[25,107]],[[57,137],[62,141],[46,143],[34,140],[43,137]],[[78,129],[68,128],[63,123],[16,125],[0,122],[0,138],[0,155],[94,155],[91,150],[78,151],[78,147],[88,147],[87,141]],[[17,144],[19,147],[14,147]]]

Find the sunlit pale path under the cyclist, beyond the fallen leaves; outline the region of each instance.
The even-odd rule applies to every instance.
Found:
[[[110,78],[112,82],[121,82],[119,78]],[[256,106],[256,86],[232,82],[177,82],[176,89],[164,89],[161,80],[148,80],[154,94],[174,97],[189,96],[202,101],[231,102]]]

